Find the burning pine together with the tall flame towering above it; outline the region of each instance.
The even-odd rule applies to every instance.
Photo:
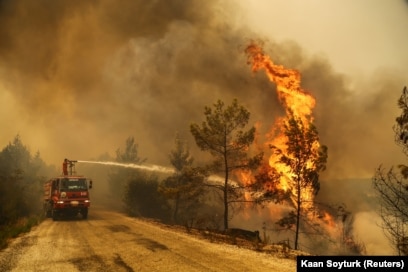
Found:
[[[274,137],[269,144],[273,153],[269,158],[267,176],[278,180],[269,182],[277,184],[278,188],[268,190],[284,191],[286,194],[283,195],[289,195],[295,212],[279,223],[296,226],[294,247],[297,249],[301,215],[313,208],[314,196],[319,190],[319,173],[325,169],[327,161],[327,147],[320,145],[313,124],[315,99],[301,88],[297,70],[274,64],[256,43],[251,43],[245,52],[252,70],[265,70],[268,78],[276,83],[278,98],[286,111],[286,116],[276,121],[271,133]]]

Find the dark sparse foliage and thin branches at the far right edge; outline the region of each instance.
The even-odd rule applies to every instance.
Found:
[[[395,142],[408,156],[408,90],[404,87],[398,100],[402,110],[394,126]],[[399,255],[408,255],[408,166],[385,170],[379,166],[372,179],[380,200],[382,228]]]

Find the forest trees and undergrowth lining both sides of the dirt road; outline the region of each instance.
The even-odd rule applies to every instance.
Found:
[[[398,100],[402,113],[394,125],[395,141],[404,153],[407,101],[408,92],[404,88]],[[284,144],[270,146],[276,158],[271,163],[263,152],[251,148],[256,129],[247,127],[249,116],[249,111],[236,99],[230,105],[218,100],[212,107],[204,107],[205,121],[192,123],[190,132],[197,146],[211,155],[212,160],[205,164],[195,164],[188,145],[176,134],[174,147],[168,152],[173,174],[128,167],[109,167],[101,172],[94,166],[88,171],[104,173],[109,186],[107,197],[122,203],[118,207],[130,216],[183,225],[187,231],[191,228],[227,231],[235,215],[272,203],[286,209],[285,213],[276,214],[275,224],[279,232],[293,235],[287,239],[288,247],[311,246],[308,236],[317,235],[321,239],[314,238],[320,242],[312,245],[312,250],[319,247],[332,254],[365,254],[364,241],[353,234],[353,214],[346,205],[330,206],[314,198],[320,190],[319,173],[325,170],[328,158],[328,148],[319,144],[317,128],[289,111],[282,126]],[[139,154],[138,147],[130,136],[124,148],[116,149],[116,157],[105,154],[99,159],[114,160],[123,166],[144,165],[148,158]],[[372,178],[381,227],[398,255],[408,252],[407,169],[402,164],[389,170],[379,166]],[[2,149],[1,247],[7,245],[8,239],[44,220],[43,183],[58,171],[42,160],[39,151],[32,154],[19,135]],[[270,242],[265,232],[263,242]]]

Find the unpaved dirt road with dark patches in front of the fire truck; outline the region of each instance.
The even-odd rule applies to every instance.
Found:
[[[0,271],[296,271],[293,260],[213,244],[120,213],[45,220],[0,251]]]

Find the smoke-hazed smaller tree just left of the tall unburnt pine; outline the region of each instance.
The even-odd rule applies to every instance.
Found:
[[[193,168],[193,157],[186,143],[176,135],[175,148],[169,154],[175,173],[163,180],[160,192],[173,203],[173,222],[186,223],[194,218],[203,195],[204,175]],[[180,218],[181,217],[181,218]]]

